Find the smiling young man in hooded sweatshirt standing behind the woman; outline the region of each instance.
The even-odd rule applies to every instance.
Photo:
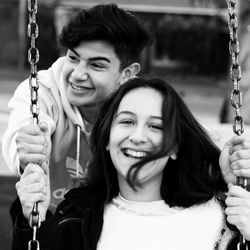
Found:
[[[39,125],[30,125],[29,81],[15,91],[3,156],[19,174],[28,163],[49,162],[51,206],[63,198],[72,177],[86,175],[98,105],[140,71],[140,54],[150,43],[146,27],[116,5],[83,9],[62,30],[66,56],[38,74]]]

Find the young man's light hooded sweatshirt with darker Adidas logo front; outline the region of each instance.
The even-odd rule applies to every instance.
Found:
[[[49,152],[51,209],[58,205],[71,187],[72,177],[86,175],[91,157],[89,134],[84,126],[86,121],[66,96],[66,83],[61,74],[64,60],[65,57],[61,57],[49,69],[38,72],[39,122],[48,124],[52,143]],[[17,174],[20,174],[20,163],[15,137],[21,126],[30,124],[30,103],[29,80],[26,79],[9,101],[10,117],[2,140],[4,160],[9,169]]]

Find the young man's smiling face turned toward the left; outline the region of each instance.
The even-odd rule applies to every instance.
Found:
[[[82,42],[68,50],[62,74],[69,102],[93,107],[119,87],[120,60],[107,43]]]

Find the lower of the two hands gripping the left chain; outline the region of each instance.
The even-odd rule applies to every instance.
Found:
[[[48,165],[30,163],[24,169],[20,181],[16,183],[16,190],[21,201],[25,218],[29,220],[30,213],[36,202],[41,221],[45,220],[50,203],[50,183]]]

